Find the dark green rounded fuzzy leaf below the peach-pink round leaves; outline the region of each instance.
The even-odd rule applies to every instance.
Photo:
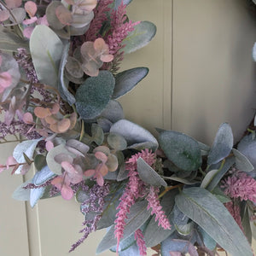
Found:
[[[76,107],[82,119],[94,119],[113,95],[114,78],[109,71],[100,71],[97,77],[86,79],[76,93]]]

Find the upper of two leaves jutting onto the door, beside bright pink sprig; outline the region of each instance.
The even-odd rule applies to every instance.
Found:
[[[137,49],[146,46],[156,33],[156,26],[150,21],[141,21],[134,26],[134,30],[128,33],[128,36],[123,40],[125,47],[122,49],[125,54],[129,54]]]

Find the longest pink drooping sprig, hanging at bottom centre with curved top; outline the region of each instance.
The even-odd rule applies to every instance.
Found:
[[[125,162],[125,169],[129,171],[128,178],[129,181],[125,187],[125,193],[119,199],[119,212],[116,214],[116,219],[114,221],[114,234],[117,238],[117,253],[119,249],[119,241],[124,236],[125,230],[125,219],[127,214],[130,212],[131,206],[135,203],[137,198],[143,197],[144,183],[138,177],[137,174],[137,160],[143,158],[149,166],[152,166],[155,162],[155,154],[146,148],[140,153],[134,154],[129,160]]]

